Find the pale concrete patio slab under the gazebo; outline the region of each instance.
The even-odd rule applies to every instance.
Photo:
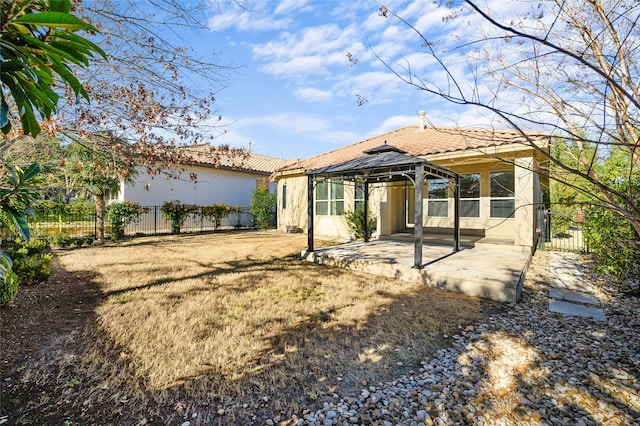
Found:
[[[474,243],[473,239],[463,240],[463,248],[455,252],[451,239],[425,238],[421,269],[413,268],[414,241],[405,235],[319,248],[302,256],[318,264],[420,282],[498,302],[517,302],[531,255],[500,245]]]

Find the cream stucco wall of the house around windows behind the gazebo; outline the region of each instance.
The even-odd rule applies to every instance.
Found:
[[[506,161],[505,161],[506,160]],[[460,174],[480,174],[480,215],[478,218],[460,218],[462,229],[484,230],[488,238],[501,239],[516,246],[532,247],[535,242],[535,179],[531,171],[535,162],[532,151],[520,151],[501,155],[500,159],[490,155],[474,154],[466,158],[448,158],[436,163],[448,167]],[[515,164],[515,165],[514,165]],[[491,185],[490,174],[497,171],[514,171],[515,214],[511,218],[490,217]],[[287,185],[287,208],[281,209],[281,189]],[[345,187],[345,208],[353,207],[353,191],[351,186]],[[389,235],[406,228],[405,192],[413,191],[407,185],[388,187],[372,186],[369,193],[369,206],[378,218],[379,235]],[[425,227],[453,228],[454,199],[450,191],[447,217],[430,217],[428,215],[428,191],[423,191],[423,212]],[[286,225],[295,225],[304,232],[307,230],[307,177],[288,176],[278,180],[279,211],[278,226],[285,230]],[[348,227],[342,216],[315,216],[314,234],[321,236],[348,237]]]

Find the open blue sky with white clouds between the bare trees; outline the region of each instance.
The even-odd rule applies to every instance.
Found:
[[[491,123],[478,111],[403,83],[383,63],[410,66],[422,78],[444,78],[419,35],[391,16],[397,13],[430,41],[447,46],[472,24],[443,20],[448,11],[432,0],[391,0],[386,18],[374,0],[249,0],[242,6],[212,7],[210,31],[194,46],[214,49],[236,67],[216,96],[225,133],[214,143],[247,147],[250,141],[255,153],[308,158],[417,126],[420,110],[436,125]],[[459,52],[447,60],[461,81],[472,78]]]

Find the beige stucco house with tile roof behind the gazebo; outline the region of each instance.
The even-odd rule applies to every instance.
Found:
[[[476,245],[531,252],[544,208],[543,189],[548,187],[545,153],[549,137],[427,127],[424,117],[421,111],[417,126],[293,161],[276,170],[272,179],[278,186],[278,228],[349,238],[344,213],[364,206],[367,199],[379,237],[414,232],[415,220],[421,217],[420,235],[424,229],[425,238],[459,233],[475,237]],[[424,167],[422,188],[416,191],[412,168],[380,168],[384,163],[373,159],[374,155],[383,158],[381,153],[405,158],[408,165],[419,162]],[[367,167],[369,163],[373,166]],[[313,218],[311,223],[309,217]]]

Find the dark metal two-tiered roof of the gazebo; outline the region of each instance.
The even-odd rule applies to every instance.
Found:
[[[456,173],[423,158],[408,155],[392,145],[384,145],[363,151],[365,156],[339,164],[306,172],[315,178],[368,179],[377,181],[405,180],[415,173],[415,167],[422,164],[426,178],[454,178]]]

